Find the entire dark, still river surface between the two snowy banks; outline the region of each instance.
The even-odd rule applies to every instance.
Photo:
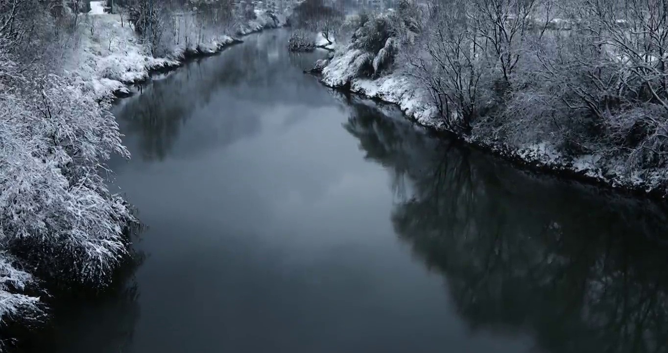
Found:
[[[667,352],[665,213],[347,100],[286,42],[122,100],[144,259],[35,351]]]

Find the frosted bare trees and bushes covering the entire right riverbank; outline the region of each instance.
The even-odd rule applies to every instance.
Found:
[[[314,70],[506,158],[665,197],[667,19],[635,0],[401,1],[347,19]]]

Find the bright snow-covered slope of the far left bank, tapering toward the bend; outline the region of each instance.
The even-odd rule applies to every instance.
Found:
[[[104,1],[91,1],[91,11],[83,17],[79,29],[77,55],[66,64],[66,70],[76,72],[98,99],[130,94],[129,85],[147,80],[151,72],[182,66],[189,58],[211,55],[240,43],[235,38],[287,25],[287,15],[274,15],[263,9],[255,10],[255,19],[231,29],[234,33],[210,33],[189,37],[182,29],[176,44],[162,57],[154,57],[136,35],[127,19],[104,12]],[[185,21],[196,27],[192,21]]]

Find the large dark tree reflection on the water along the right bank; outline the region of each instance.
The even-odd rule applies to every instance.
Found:
[[[537,179],[353,111],[346,128],[367,156],[409,181],[397,234],[444,275],[473,329],[528,333],[546,352],[668,352],[668,225],[655,205]]]

